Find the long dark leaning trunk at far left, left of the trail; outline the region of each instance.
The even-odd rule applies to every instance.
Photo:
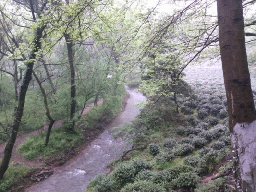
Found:
[[[4,156],[3,156],[3,159],[2,159],[2,162],[0,165],[0,179],[3,178],[3,175],[9,166],[9,162],[10,162],[10,159],[12,156],[12,149],[13,149],[14,143],[16,141],[17,133],[19,131],[21,119],[23,116],[26,92],[28,89],[29,82],[32,78],[32,71],[33,71],[33,66],[34,66],[33,60],[36,58],[36,53],[40,47],[40,39],[42,37],[43,29],[44,29],[44,27],[36,30],[35,40],[34,40],[35,48],[33,49],[32,53],[29,57],[29,60],[31,60],[31,61],[29,63],[27,63],[27,69],[26,69],[26,72],[25,72],[25,75],[23,77],[22,84],[20,87],[18,103],[17,103],[16,107],[14,108],[14,116],[13,116],[13,122],[12,122],[12,134],[11,134],[10,139],[8,140],[8,143],[5,146]]]

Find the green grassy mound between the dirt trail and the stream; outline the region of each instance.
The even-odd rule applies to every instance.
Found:
[[[65,153],[66,150],[70,150],[74,146],[83,142],[83,136],[79,133],[78,129],[75,129],[77,133],[73,134],[67,132],[64,127],[55,128],[51,132],[49,144],[45,147],[45,137],[42,135],[33,135],[28,137],[23,144],[18,146],[17,151],[22,154],[26,159],[32,160],[37,157],[49,157],[59,153]],[[43,132],[45,135],[46,132]]]

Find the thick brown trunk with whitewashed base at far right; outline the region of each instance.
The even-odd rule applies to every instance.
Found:
[[[219,44],[239,192],[256,192],[256,114],[248,70],[242,0],[217,0]]]

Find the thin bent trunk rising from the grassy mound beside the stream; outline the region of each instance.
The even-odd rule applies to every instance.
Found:
[[[47,133],[46,133],[46,138],[45,138],[45,146],[47,146],[48,142],[49,142],[49,138],[50,138],[51,128],[52,128],[55,120],[51,117],[51,114],[50,114],[50,109],[49,109],[48,104],[47,104],[47,96],[46,96],[46,93],[45,93],[45,89],[42,86],[42,83],[40,82],[40,80],[37,77],[37,74],[34,71],[33,71],[33,75],[34,75],[35,79],[37,80],[37,83],[39,84],[39,87],[41,89],[41,92],[42,92],[42,95],[43,95],[43,98],[44,98],[46,116],[50,121],[50,123],[48,125],[48,129],[47,129]]]

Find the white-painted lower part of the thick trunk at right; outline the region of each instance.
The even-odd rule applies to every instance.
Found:
[[[231,137],[233,151],[239,158],[234,160],[239,160],[242,185],[250,188],[248,192],[256,192],[256,121],[237,123]]]

